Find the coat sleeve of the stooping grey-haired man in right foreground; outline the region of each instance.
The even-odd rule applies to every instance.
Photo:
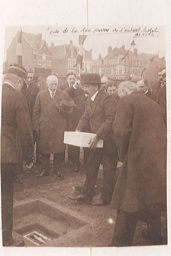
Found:
[[[119,153],[119,160],[124,161],[128,151],[132,132],[133,109],[127,101],[127,96],[119,100],[117,113],[113,123],[114,138]]]

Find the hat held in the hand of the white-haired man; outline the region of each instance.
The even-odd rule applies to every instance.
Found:
[[[56,107],[59,108],[64,113],[72,113],[74,109],[74,100],[69,96],[64,99],[59,99],[56,101]]]

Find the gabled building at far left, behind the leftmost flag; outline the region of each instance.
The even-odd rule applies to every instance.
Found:
[[[13,37],[6,51],[6,67],[17,63],[17,42],[20,31]],[[22,66],[30,68],[40,79],[40,89],[46,87],[46,77],[52,73],[52,52],[42,34],[22,33]]]

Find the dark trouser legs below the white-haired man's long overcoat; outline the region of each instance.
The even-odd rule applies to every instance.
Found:
[[[45,170],[46,174],[50,174],[50,156],[51,154],[40,154],[39,162],[42,164],[42,168]],[[63,160],[63,152],[53,155],[53,172],[60,172],[61,164]]]

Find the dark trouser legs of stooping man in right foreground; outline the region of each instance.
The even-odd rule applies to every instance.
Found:
[[[145,211],[148,234],[156,243],[161,236],[161,209],[159,206]],[[131,246],[134,239],[137,220],[141,216],[140,212],[117,212],[115,230],[111,246]]]

